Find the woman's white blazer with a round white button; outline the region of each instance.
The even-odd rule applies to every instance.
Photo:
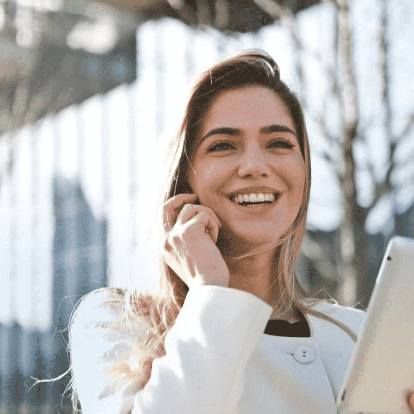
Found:
[[[311,336],[264,334],[272,308],[221,286],[191,289],[149,381],[136,370],[147,321],[120,320],[108,292],[80,303],[71,335],[74,387],[83,414],[334,414],[355,343],[332,322],[305,315]],[[365,313],[314,308],[357,335]],[[135,369],[135,370],[134,370]]]

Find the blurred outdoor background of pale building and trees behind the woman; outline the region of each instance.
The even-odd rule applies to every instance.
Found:
[[[414,237],[411,0],[0,0],[0,411],[70,413],[67,323],[101,286],[155,291],[147,237],[193,77],[268,51],[312,149],[297,274],[365,309]],[[30,390],[29,390],[30,389]]]

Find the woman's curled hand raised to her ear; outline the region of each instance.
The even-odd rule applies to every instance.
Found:
[[[220,221],[209,207],[179,194],[164,204],[162,258],[191,289],[194,284],[228,286],[229,271],[216,246]]]

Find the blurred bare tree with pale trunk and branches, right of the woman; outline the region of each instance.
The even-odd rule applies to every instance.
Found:
[[[294,42],[297,55],[312,53],[306,50],[301,40],[301,33],[296,27],[296,18],[287,7],[276,4],[272,0],[255,0],[263,10],[274,19],[281,19],[290,33]],[[388,160],[386,173],[381,181],[375,177],[375,166],[370,160],[366,165],[358,165],[354,156],[357,144],[366,145],[365,132],[370,127],[366,119],[361,118],[361,99],[358,96],[358,83],[355,73],[355,42],[353,33],[353,22],[350,13],[350,0],[326,0],[334,6],[334,66],[325,67],[325,76],[331,83],[331,94],[325,97],[324,108],[333,101],[339,104],[340,131],[332,133],[327,125],[325,113],[317,113],[308,108],[304,102],[305,111],[318,124],[318,128],[327,139],[331,153],[325,151],[323,158],[327,159],[336,171],[342,194],[343,215],[339,223],[337,233],[338,263],[336,266],[328,258],[327,252],[309,236],[303,240],[302,252],[317,268],[319,274],[326,280],[335,278],[338,282],[336,292],[331,292],[338,300],[354,305],[359,303],[366,307],[373,288],[373,281],[367,281],[366,260],[370,256],[370,246],[367,243],[366,220],[369,213],[383,197],[395,198],[396,188],[393,185],[393,172],[396,169],[395,150],[398,142],[409,136],[413,128],[414,113],[409,117],[406,127],[399,136],[393,136],[392,106],[390,103],[389,84],[389,40],[388,40],[388,14],[387,1],[379,0],[381,5],[380,30],[378,42],[374,47],[379,48],[378,71],[381,73],[381,90],[383,116],[374,122],[382,122],[382,128],[386,133],[388,148]],[[321,56],[316,56],[321,61]],[[306,95],[306,80],[301,58],[297,58],[297,76],[301,83],[303,95]],[[306,100],[306,97],[305,97]],[[334,154],[340,154],[336,157]],[[407,160],[409,162],[409,160]],[[399,165],[401,167],[401,165]],[[358,202],[357,174],[359,170],[365,169],[373,183],[373,196],[368,205],[361,206]],[[395,203],[394,211],[396,212]],[[369,259],[368,259],[369,260]]]

